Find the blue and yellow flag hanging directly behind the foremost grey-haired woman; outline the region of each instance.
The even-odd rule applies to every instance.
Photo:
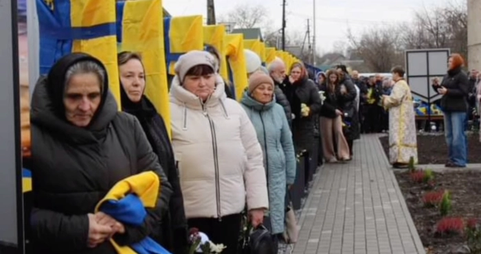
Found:
[[[109,77],[118,77],[115,0],[36,0],[36,8],[41,74],[63,56],[84,52],[102,61]],[[109,82],[120,102],[118,78]]]

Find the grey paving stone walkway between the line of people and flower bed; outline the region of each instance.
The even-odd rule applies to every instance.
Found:
[[[317,174],[293,253],[424,254],[378,135],[363,135],[354,151]]]

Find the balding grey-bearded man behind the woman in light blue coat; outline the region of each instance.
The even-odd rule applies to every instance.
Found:
[[[285,85],[284,80],[286,78],[286,65],[281,59],[276,58],[276,60],[273,60],[273,62],[271,62],[271,65],[269,65],[269,75],[271,76],[272,80],[274,80],[274,84],[276,84],[276,86],[274,87],[276,102],[284,108],[284,112],[286,113],[286,117],[287,117],[287,122],[289,122],[289,125],[291,125],[291,122],[292,122],[291,104],[289,103],[289,100],[287,100],[286,95],[284,95],[284,92],[280,88],[280,86]]]

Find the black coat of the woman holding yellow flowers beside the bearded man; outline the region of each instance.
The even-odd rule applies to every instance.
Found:
[[[293,140],[296,152],[310,151],[313,148],[315,138],[315,126],[321,110],[321,98],[319,90],[312,80],[304,78],[294,84],[285,81],[284,94],[291,104],[291,110],[295,118],[292,120]],[[302,117],[301,104],[306,104],[311,109],[308,117]]]

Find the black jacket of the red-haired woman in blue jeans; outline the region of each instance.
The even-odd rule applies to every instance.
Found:
[[[468,76],[461,67],[447,71],[441,82],[441,86],[447,89],[447,93],[441,97],[441,108],[445,112],[467,112],[469,95]],[[433,87],[437,92],[438,87]]]

